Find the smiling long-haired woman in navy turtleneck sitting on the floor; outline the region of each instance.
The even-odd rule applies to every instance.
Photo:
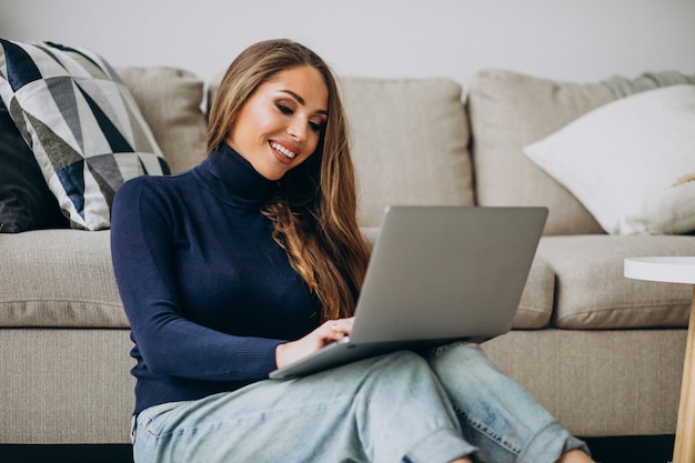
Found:
[[[316,54],[256,43],[222,80],[208,159],[117,194],[135,462],[591,462],[475,345],[268,380],[352,328],[369,252],[345,125]]]

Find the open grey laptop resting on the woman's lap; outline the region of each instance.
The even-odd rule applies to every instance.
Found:
[[[270,378],[506,333],[546,218],[542,207],[386,208],[350,336]]]

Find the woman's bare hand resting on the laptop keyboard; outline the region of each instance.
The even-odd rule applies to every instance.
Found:
[[[321,326],[296,341],[280,344],[275,349],[275,363],[283,368],[290,363],[312,354],[326,344],[340,341],[350,335],[354,316],[350,319],[329,320]]]

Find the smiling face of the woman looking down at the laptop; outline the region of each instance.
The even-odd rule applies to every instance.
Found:
[[[312,67],[291,68],[261,84],[244,103],[226,143],[269,180],[316,149],[329,114],[329,89]]]

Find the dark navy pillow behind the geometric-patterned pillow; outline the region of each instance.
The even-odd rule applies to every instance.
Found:
[[[33,153],[0,100],[0,232],[68,225]]]

